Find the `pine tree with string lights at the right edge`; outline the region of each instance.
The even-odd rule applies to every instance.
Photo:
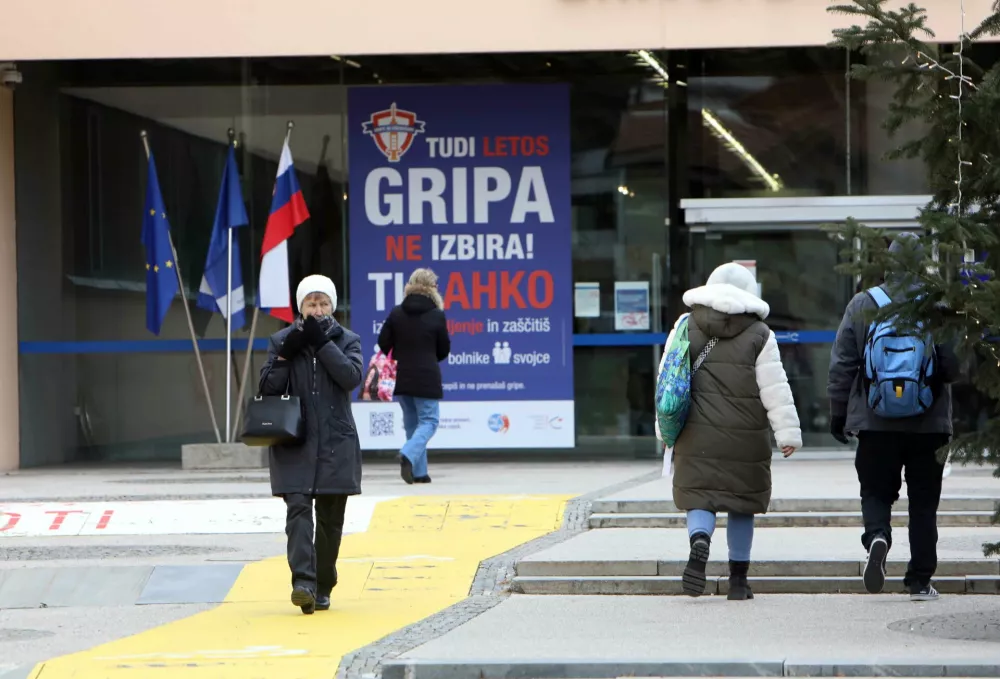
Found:
[[[994,405],[984,426],[956,437],[941,454],[963,465],[992,465],[1000,478],[1000,63],[973,60],[977,41],[1000,35],[1000,0],[968,33],[956,0],[963,35],[954,45],[933,42],[925,9],[910,3],[889,10],[888,1],[829,7],[865,22],[834,31],[832,44],[867,57],[852,66],[853,78],[895,86],[883,122],[891,137],[908,123],[925,128],[888,156],[919,158],[926,166],[932,199],[918,218],[921,247],[890,253],[891,234],[853,219],[827,228],[851,260],[842,270],[866,287],[885,272],[905,272],[920,286],[919,296],[894,300],[878,317],[898,316],[904,330],[920,323],[936,342],[955,347],[973,386]],[[984,547],[987,555],[1000,553],[1000,543]]]

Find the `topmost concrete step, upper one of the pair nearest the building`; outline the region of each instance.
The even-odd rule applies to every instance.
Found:
[[[667,497],[650,496],[646,499],[603,498],[591,503],[595,514],[675,514],[680,510],[669,499],[669,489],[659,489]],[[942,497],[938,507],[945,512],[991,512],[1000,503],[1000,497]],[[772,498],[769,512],[856,512],[861,507],[857,497],[849,498]],[[906,498],[896,502],[894,509],[905,512],[909,507]]]

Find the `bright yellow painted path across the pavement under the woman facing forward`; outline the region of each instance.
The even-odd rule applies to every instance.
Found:
[[[40,664],[30,679],[332,679],[341,657],[463,599],[480,561],[558,528],[569,496],[401,498],[344,538],[333,608],[288,602],[283,557],[251,564],[219,607]]]

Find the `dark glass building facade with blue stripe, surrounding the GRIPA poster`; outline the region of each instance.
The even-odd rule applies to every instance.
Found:
[[[179,444],[214,439],[181,305],[160,337],[145,330],[140,131],[156,156],[197,334],[214,340],[203,356],[224,428],[225,327],[193,299],[228,132],[250,217],[239,236],[248,301],[293,120],[312,215],[291,244],[293,284],[330,276],[350,324],[346,95],[403,83],[570,83],[573,280],[601,290],[601,315],[575,319],[577,447],[654,455],[656,362],[685,289],[718,264],[756,260],[776,331],[834,330],[853,293],[833,270],[838,247],[818,229],[699,231],[685,225],[681,200],[925,192],[919,163],[882,160],[889,92],[848,81],[848,62],[842,51],[802,48],[22,64],[22,466],[177,459]],[[615,331],[616,281],[650,283],[650,332]],[[261,316],[256,337],[279,327]],[[247,333],[236,337],[239,376]],[[829,344],[786,344],[782,355],[807,444],[833,445]],[[251,382],[261,359],[254,354]]]

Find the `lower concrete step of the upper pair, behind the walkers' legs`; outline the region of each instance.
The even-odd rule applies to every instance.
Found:
[[[894,527],[906,527],[909,517],[905,511],[892,513]],[[687,520],[682,512],[671,513],[611,513],[591,514],[591,528],[683,528]],[[726,516],[720,514],[718,525],[726,525]],[[863,526],[860,511],[852,512],[778,512],[757,516],[760,528],[801,527],[820,528],[828,526]],[[938,527],[986,527],[993,525],[992,511],[939,511]]]

